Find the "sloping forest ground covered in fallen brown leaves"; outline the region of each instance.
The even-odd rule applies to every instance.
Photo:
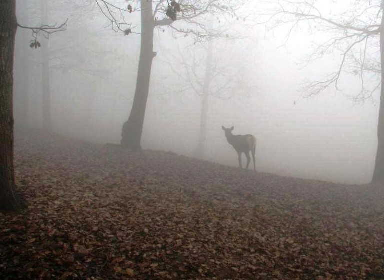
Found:
[[[40,131],[15,166],[28,207],[0,213],[0,279],[384,279],[383,185]]]

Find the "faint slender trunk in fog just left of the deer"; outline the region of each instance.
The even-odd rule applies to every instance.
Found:
[[[212,44],[212,40],[209,40],[207,54],[206,54],[205,77],[204,77],[202,96],[201,96],[202,100],[201,100],[200,133],[198,137],[197,148],[195,151],[195,156],[198,158],[204,158],[204,154],[205,154],[206,123],[208,120],[208,108],[209,108],[209,84],[212,79],[212,55],[213,55],[213,44]]]

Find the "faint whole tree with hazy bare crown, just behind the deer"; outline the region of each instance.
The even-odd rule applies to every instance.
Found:
[[[193,92],[201,98],[200,126],[194,156],[204,158],[207,138],[207,123],[210,100],[230,99],[254,91],[250,88],[245,52],[239,53],[236,45],[243,43],[240,38],[209,38],[181,50],[167,54],[165,62],[172,69],[179,85],[172,84],[173,91]],[[254,64],[253,64],[254,65]],[[179,88],[178,88],[179,87]]]

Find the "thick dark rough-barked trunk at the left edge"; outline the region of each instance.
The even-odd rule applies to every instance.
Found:
[[[15,0],[0,1],[0,209],[19,207],[14,195],[13,54],[16,37]]]

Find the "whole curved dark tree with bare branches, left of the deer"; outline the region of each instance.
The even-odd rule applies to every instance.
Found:
[[[94,0],[100,10],[110,20],[115,31],[125,35],[137,33],[124,15],[135,11],[141,14],[141,45],[136,89],[132,109],[128,120],[122,127],[121,144],[135,151],[141,150],[141,135],[144,123],[145,109],[149,92],[151,67],[156,52],[153,51],[153,33],[155,28],[164,26],[174,33],[184,36],[194,36],[196,40],[220,36],[222,33],[211,32],[206,28],[204,19],[209,14],[215,16],[235,16],[234,11],[240,2],[233,4],[231,0],[146,0],[140,1],[139,8],[132,5],[134,0],[127,0],[124,8],[117,7],[112,1]],[[182,22],[182,23],[179,23]]]

